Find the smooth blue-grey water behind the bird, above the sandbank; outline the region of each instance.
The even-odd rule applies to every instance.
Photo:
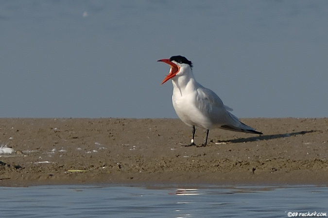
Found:
[[[0,115],[176,118],[156,61],[183,55],[238,117],[327,117],[327,20],[327,0],[0,0]]]

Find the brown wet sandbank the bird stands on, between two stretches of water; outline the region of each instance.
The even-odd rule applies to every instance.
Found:
[[[0,119],[0,186],[59,184],[320,184],[328,119],[241,119],[262,136],[209,131],[189,144],[178,119]],[[205,131],[196,129],[195,143]]]

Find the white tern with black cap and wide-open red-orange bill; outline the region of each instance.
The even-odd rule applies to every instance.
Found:
[[[252,127],[243,124],[235,115],[230,113],[231,108],[225,106],[219,96],[199,84],[192,73],[192,63],[183,56],[172,56],[170,59],[161,59],[171,65],[169,75],[163,83],[172,79],[173,108],[178,117],[192,127],[191,143],[194,143],[195,126],[206,129],[206,140],[201,146],[207,145],[209,129],[222,128],[231,131],[262,134]]]

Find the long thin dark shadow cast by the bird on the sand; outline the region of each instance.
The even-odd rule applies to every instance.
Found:
[[[251,142],[251,141],[273,140],[273,139],[286,138],[296,135],[304,135],[307,133],[317,132],[317,131],[318,130],[310,130],[310,131],[293,132],[293,133],[286,133],[286,134],[254,136],[254,137],[232,139],[232,140],[218,140],[218,143],[242,143],[242,142]]]

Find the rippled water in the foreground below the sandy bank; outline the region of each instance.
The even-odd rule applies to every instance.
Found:
[[[289,217],[328,212],[328,187],[0,187],[1,218]],[[322,214],[325,215],[325,214]]]

